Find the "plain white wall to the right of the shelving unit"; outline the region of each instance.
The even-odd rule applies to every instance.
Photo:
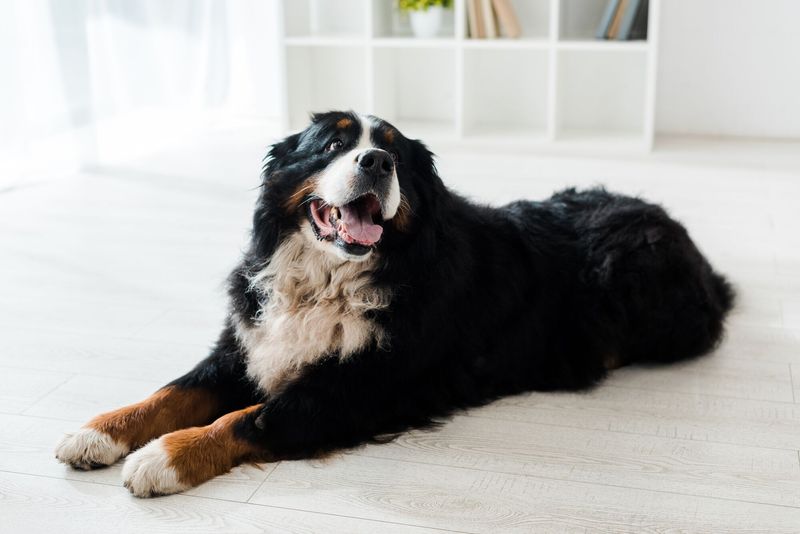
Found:
[[[800,138],[800,0],[662,0],[656,129]]]

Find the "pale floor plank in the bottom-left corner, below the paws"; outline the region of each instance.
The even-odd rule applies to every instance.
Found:
[[[118,488],[0,473],[0,532],[25,534],[433,534],[441,530],[186,495],[136,499]]]

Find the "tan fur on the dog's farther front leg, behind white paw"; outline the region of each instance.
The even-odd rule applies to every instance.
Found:
[[[216,397],[208,391],[167,386],[142,402],[98,415],[86,426],[136,449],[179,428],[207,424],[217,407]]]

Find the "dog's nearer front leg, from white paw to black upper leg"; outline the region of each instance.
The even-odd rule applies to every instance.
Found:
[[[162,436],[128,457],[125,485],[139,497],[177,493],[243,462],[319,457],[444,413],[433,413],[424,395],[403,397],[365,381],[353,370],[363,367],[323,363],[263,404]]]

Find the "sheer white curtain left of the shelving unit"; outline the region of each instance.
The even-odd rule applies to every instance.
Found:
[[[0,182],[278,115],[274,0],[0,0]]]

